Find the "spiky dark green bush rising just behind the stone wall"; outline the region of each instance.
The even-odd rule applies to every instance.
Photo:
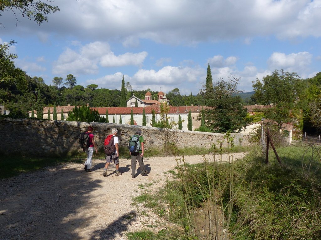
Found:
[[[99,122],[98,111],[91,109],[89,106],[75,106],[72,111],[69,111],[67,121],[76,122]]]

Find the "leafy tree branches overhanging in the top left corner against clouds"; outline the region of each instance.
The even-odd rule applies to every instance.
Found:
[[[27,17],[29,20],[33,19],[40,25],[44,21],[48,22],[46,15],[51,12],[58,12],[59,8],[39,0],[6,0],[0,1],[0,12],[4,10],[11,11],[16,18],[17,15],[21,14],[22,17]]]

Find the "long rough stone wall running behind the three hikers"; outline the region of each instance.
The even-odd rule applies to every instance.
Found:
[[[94,128],[95,142],[99,149],[112,128],[118,129],[119,144],[126,146],[130,136],[141,129],[145,148],[163,146],[164,136],[168,134],[170,142],[178,147],[198,146],[209,148],[217,140],[223,141],[223,134],[182,130],[163,130],[156,127],[144,127],[129,124],[85,123],[36,119],[0,119],[0,142],[2,154],[32,156],[62,155],[71,151],[80,151],[79,135],[91,125]],[[236,145],[246,146],[246,135],[235,133]],[[226,146],[224,141],[223,146]]]

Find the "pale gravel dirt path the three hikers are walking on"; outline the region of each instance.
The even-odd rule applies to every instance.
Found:
[[[203,162],[202,156],[185,160]],[[177,165],[175,157],[144,158],[150,173],[134,179],[131,160],[119,162],[121,176],[110,165],[108,177],[103,177],[104,160],[93,159],[93,172],[85,172],[83,164],[65,164],[0,180],[0,239],[126,240],[126,232],[143,228],[141,217],[153,224],[155,220],[138,216],[132,197],[163,186],[166,172]]]

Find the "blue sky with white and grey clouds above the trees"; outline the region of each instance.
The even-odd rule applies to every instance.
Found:
[[[238,89],[275,70],[301,78],[321,72],[321,0],[54,0],[40,26],[1,12],[0,43],[27,75],[76,77],[77,85],[133,90],[204,89],[239,79]]]

